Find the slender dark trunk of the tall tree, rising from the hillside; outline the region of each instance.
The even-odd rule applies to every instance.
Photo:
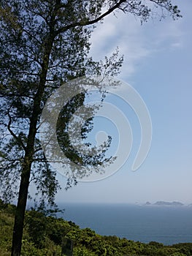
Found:
[[[39,115],[41,113],[41,102],[42,96],[45,92],[45,83],[47,77],[47,70],[49,66],[49,59],[51,49],[53,47],[54,36],[53,33],[47,37],[47,42],[45,42],[45,53],[42,62],[42,72],[39,80],[39,89],[36,96],[34,97],[34,108],[30,120],[30,127],[28,131],[28,143],[26,146],[26,153],[23,160],[22,174],[20,179],[20,189],[18,196],[18,204],[15,212],[15,223],[12,235],[12,256],[20,256],[21,246],[22,246],[22,236],[23,236],[23,225],[24,217],[26,211],[26,203],[28,197],[28,186],[30,182],[31,175],[31,165],[34,158],[34,143],[37,134],[37,123],[39,120]]]

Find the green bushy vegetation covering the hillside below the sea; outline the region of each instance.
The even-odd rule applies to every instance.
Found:
[[[11,252],[15,206],[0,201],[0,255]],[[23,256],[61,256],[63,238],[74,241],[74,256],[134,256],[134,255],[192,255],[192,243],[149,244],[116,236],[100,236],[90,228],[80,229],[73,222],[46,216],[39,211],[27,211],[23,233]]]

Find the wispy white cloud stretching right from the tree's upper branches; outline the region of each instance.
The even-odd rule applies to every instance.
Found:
[[[94,59],[103,59],[118,46],[124,56],[121,76],[130,77],[156,52],[183,47],[183,21],[155,20],[141,26],[139,19],[118,13],[118,18],[110,15],[97,26],[91,42]]]

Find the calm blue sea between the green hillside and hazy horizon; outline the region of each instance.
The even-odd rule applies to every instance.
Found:
[[[58,204],[64,217],[105,236],[163,244],[192,242],[192,207],[126,204]]]

